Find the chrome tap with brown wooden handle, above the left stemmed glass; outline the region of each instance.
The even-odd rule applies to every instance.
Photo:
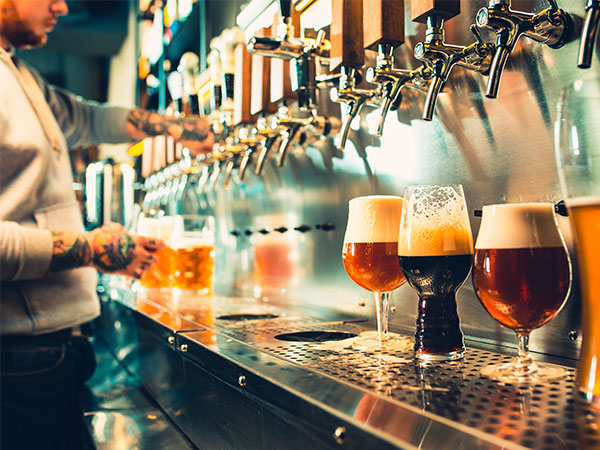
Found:
[[[424,85],[428,78],[425,67],[415,70],[394,67],[394,50],[404,44],[404,1],[368,0],[368,13],[363,14],[363,45],[377,52],[376,66],[369,67],[366,79],[376,84],[380,99],[379,124],[376,135],[381,137],[387,114],[397,103],[400,90],[409,84]]]

